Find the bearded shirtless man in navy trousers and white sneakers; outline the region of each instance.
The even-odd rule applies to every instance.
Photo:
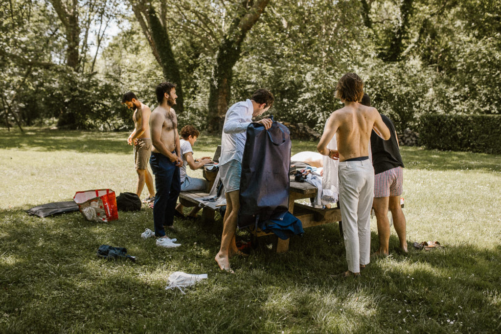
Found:
[[[183,160],[177,133],[176,85],[163,82],[156,87],[158,107],[150,117],[151,151],[150,166],[155,175],[156,195],[153,205],[153,222],[158,246],[171,247],[164,226],[172,228],[177,196],[181,189],[179,167]]]

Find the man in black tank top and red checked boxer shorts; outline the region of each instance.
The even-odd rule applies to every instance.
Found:
[[[362,98],[363,105],[370,106],[371,100],[367,94]],[[393,226],[400,240],[400,248],[407,252],[405,240],[405,216],[400,206],[402,195],[404,164],[400,156],[397,133],[390,119],[384,115],[381,118],[390,129],[390,139],[382,140],[374,131],[371,133],[372,165],[374,166],[374,201],[372,207],[376,214],[379,249],[371,256],[388,255],[390,241],[390,222],[388,209],[393,217]]]

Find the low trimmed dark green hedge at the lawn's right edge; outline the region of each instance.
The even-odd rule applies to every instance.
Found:
[[[501,154],[501,115],[422,115],[419,140],[427,148]]]

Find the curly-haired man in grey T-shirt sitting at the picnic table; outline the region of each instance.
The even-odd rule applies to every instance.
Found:
[[[197,179],[186,175],[186,165],[188,165],[191,170],[195,170],[203,168],[204,165],[212,162],[212,160],[210,160],[210,157],[203,157],[200,159],[193,158],[192,146],[195,145],[198,136],[200,136],[200,132],[191,125],[185,125],[181,129],[181,140],[179,140],[179,145],[181,147],[181,156],[183,158],[183,165],[179,168],[179,174],[181,177],[181,191],[207,191],[208,183],[206,180]],[[183,205],[181,203],[176,206],[176,210],[182,216],[184,216]],[[196,213],[199,210],[200,208],[195,206],[188,214],[187,218],[196,218]]]

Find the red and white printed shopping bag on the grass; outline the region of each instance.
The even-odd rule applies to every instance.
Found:
[[[117,200],[111,189],[77,191],[73,200],[87,220],[109,222],[118,219]]]

